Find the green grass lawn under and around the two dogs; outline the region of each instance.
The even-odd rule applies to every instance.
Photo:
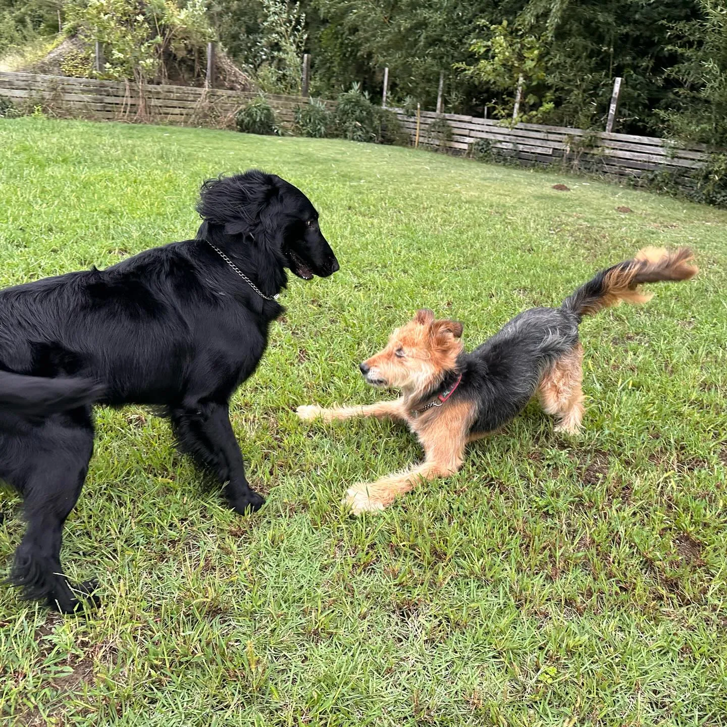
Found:
[[[310,196],[341,264],[294,278],[233,401],[267,505],[229,512],[164,420],[100,409],[63,562],[103,606],[0,589],[0,723],[725,724],[727,212],[411,149],[6,120],[0,284],[190,238],[200,182],[252,166]],[[356,365],[418,307],[471,348],[645,244],[694,246],[701,273],[584,322],[579,438],[532,404],[449,481],[346,515],[345,489],[417,444],[295,406],[374,401]],[[10,489],[0,510],[7,573]]]

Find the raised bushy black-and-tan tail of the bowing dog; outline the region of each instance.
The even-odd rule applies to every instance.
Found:
[[[664,247],[640,249],[633,260],[619,262],[607,270],[601,270],[595,278],[582,285],[563,301],[563,308],[577,316],[593,316],[602,308],[629,303],[645,303],[651,293],[643,293],[642,283],[679,281],[694,278],[699,268],[690,265],[694,254],[688,247],[669,252]]]

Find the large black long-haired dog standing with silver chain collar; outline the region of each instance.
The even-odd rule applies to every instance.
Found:
[[[0,478],[23,494],[28,521],[11,580],[60,611],[79,607],[61,531],[93,451],[92,403],[163,409],[233,510],[264,502],[245,478],[228,402],[284,310],[285,269],[309,280],[338,262],[313,204],[273,174],[209,180],[197,209],[195,240],[0,291]]]

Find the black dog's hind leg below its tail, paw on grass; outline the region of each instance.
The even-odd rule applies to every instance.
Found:
[[[48,606],[64,614],[78,611],[77,595],[92,595],[95,582],[73,586],[60,565],[63,523],[81,494],[93,452],[93,428],[64,427],[55,422],[52,448],[41,447],[23,478],[23,509],[28,527],[15,551],[10,580],[25,598],[47,598]],[[44,441],[47,445],[49,441]]]

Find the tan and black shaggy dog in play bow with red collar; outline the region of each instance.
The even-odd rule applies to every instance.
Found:
[[[622,300],[646,302],[651,295],[640,292],[642,283],[688,280],[698,270],[691,260],[688,248],[644,248],[633,260],[598,273],[560,308],[531,308],[515,316],[472,353],[462,347],[462,324],[436,321],[431,310],[419,310],[391,334],[384,350],[361,364],[366,382],[400,389],[398,399],[340,409],[299,406],[297,414],[326,422],[350,417],[406,422],[424,448],[424,462],[348,490],[354,513],[383,510],[418,481],[457,472],[467,443],[505,425],[535,393],[547,414],[558,418],[556,430],[577,433],[583,417],[581,318]]]

